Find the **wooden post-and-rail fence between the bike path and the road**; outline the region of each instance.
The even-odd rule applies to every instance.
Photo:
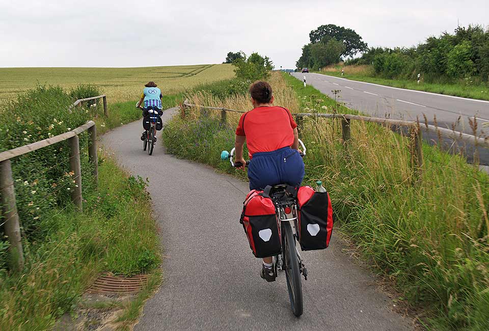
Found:
[[[214,110],[214,111],[221,111],[221,123],[226,123],[227,112],[246,113],[246,111],[236,111],[234,109],[227,109],[222,107],[207,107],[207,106],[192,104],[192,103],[188,103],[187,100],[185,100],[182,103],[182,109],[184,109],[185,107],[199,108],[201,114],[205,114],[207,109]],[[184,111],[182,111],[182,115],[184,115]],[[420,124],[419,122],[415,122],[415,121],[391,120],[386,118],[367,117],[367,116],[351,115],[351,114],[294,113],[292,115],[295,117],[295,121],[297,123],[297,129],[299,131],[301,130],[301,125],[303,124],[303,120],[305,117],[341,119],[341,132],[342,132],[342,139],[345,144],[345,147],[347,147],[348,140],[350,139],[351,120],[378,123],[381,125],[387,125],[391,127],[392,126],[406,127],[409,129],[409,133],[411,136],[411,146],[410,146],[411,160],[412,160],[413,168],[415,169],[418,175],[421,175],[423,170],[423,152],[421,148],[423,130],[425,130],[426,132],[429,131],[435,132],[437,133],[438,136],[448,137],[456,141],[473,143],[475,146],[482,146],[485,148],[489,147],[489,137],[486,137],[484,139],[482,137],[467,134],[464,132],[441,128],[427,123]]]

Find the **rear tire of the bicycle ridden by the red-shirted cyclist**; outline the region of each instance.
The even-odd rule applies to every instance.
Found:
[[[287,290],[289,292],[290,307],[292,313],[299,317],[304,312],[302,298],[301,272],[299,270],[299,260],[295,252],[295,239],[292,233],[290,223],[282,223],[282,240],[285,266],[285,279],[287,281]]]

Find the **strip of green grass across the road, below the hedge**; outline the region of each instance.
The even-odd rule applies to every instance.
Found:
[[[312,71],[311,71],[312,72]],[[400,89],[425,91],[431,93],[452,95],[456,97],[471,98],[478,100],[489,100],[489,87],[486,85],[472,85],[468,80],[465,85],[461,84],[436,84],[420,82],[418,85],[416,81],[404,80],[404,79],[385,79],[370,77],[356,74],[344,74],[341,76],[341,72],[337,71],[314,71],[316,73],[336,76],[340,78],[346,78],[351,80],[371,82],[378,85],[392,86]]]

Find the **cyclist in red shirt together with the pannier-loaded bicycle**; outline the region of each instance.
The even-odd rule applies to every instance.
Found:
[[[249,92],[254,108],[241,116],[231,154],[223,151],[221,157],[229,157],[231,164],[242,170],[245,163],[249,164],[251,191],[240,222],[253,254],[263,259],[261,278],[274,282],[277,270],[285,270],[292,311],[300,316],[300,274],[306,278],[307,270],[295,239],[302,250],[327,247],[333,227],[331,203],[327,192],[300,187],[304,162],[298,149],[297,125],[288,109],[273,106],[274,96],[267,82],[255,82]],[[245,142],[249,163],[242,156]]]

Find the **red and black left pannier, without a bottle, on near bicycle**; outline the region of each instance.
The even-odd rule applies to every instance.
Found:
[[[282,252],[275,205],[268,196],[263,196],[263,191],[249,192],[239,223],[243,225],[255,257],[265,258]]]

